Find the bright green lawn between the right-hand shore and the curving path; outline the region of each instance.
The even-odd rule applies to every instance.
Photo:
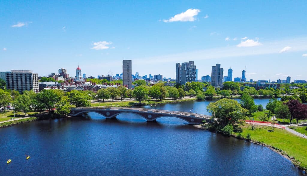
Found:
[[[272,130],[272,127],[269,126],[257,125],[254,130],[251,130],[251,127],[246,124],[245,126],[242,126],[242,128],[243,136],[250,133],[252,140],[257,140],[267,145],[282,149],[283,151],[286,151],[288,155],[291,155],[300,161],[303,166],[307,166],[306,139],[279,128],[274,128],[274,132],[267,132],[267,130]]]

